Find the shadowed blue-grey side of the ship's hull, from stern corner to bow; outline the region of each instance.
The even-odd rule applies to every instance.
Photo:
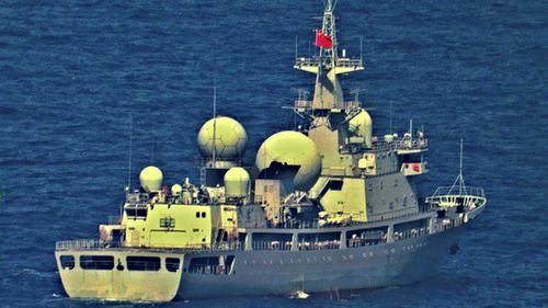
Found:
[[[434,275],[463,227],[391,243],[312,251],[235,251],[228,275],[185,273],[180,298],[327,293],[409,284]],[[191,258],[218,256],[204,253]],[[189,260],[185,260],[187,263]]]

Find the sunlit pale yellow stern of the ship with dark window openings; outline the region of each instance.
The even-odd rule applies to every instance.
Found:
[[[133,264],[128,256],[135,260]],[[70,297],[114,301],[172,300],[180,286],[183,258],[184,254],[111,249],[56,252],[61,283]],[[158,267],[155,260],[159,261]],[[168,271],[167,260],[180,261],[171,263]],[[134,271],[129,271],[132,266]]]

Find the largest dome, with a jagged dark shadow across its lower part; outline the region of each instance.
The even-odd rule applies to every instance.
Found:
[[[264,140],[256,152],[256,168],[262,171],[274,161],[300,166],[293,181],[297,191],[310,190],[321,173],[318,147],[298,132],[279,132]]]

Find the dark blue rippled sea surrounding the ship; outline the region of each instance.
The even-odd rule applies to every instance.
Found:
[[[410,118],[424,127],[422,194],[453,182],[463,137],[467,184],[489,207],[431,281],[152,306],[547,307],[548,3],[341,0],[335,12],[341,48],[359,56],[363,37],[366,70],[342,82],[363,89],[374,133],[388,132],[390,105],[400,134]],[[149,163],[198,182],[214,83],[218,112],[248,130],[250,163],[294,128],[283,107],[315,81],[293,69],[295,37],[307,55],[321,13],[319,0],[1,1],[0,306],[140,307],[69,299],[55,241],[95,237],[117,214],[130,151],[133,186]]]

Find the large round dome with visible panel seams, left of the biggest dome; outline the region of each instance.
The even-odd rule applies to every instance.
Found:
[[[215,129],[214,129],[215,127]],[[210,118],[198,132],[198,147],[205,158],[233,160],[243,156],[248,134],[243,126],[228,116]]]

